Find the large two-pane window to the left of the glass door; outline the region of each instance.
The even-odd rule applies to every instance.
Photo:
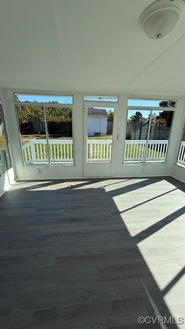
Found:
[[[72,107],[16,105],[25,166],[73,165]]]

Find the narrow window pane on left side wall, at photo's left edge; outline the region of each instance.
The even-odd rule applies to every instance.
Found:
[[[8,143],[6,138],[6,129],[3,120],[3,109],[0,105],[0,175],[11,168]]]

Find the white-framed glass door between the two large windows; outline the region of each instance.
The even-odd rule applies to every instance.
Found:
[[[114,176],[116,116],[115,104],[84,104],[84,177]]]

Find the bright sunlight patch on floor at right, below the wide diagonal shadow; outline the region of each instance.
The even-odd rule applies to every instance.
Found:
[[[175,221],[144,238],[137,246],[160,290],[163,290],[184,266],[185,240]]]

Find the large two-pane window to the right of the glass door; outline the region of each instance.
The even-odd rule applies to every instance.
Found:
[[[159,107],[154,110],[146,107],[128,109],[125,163],[165,162],[173,113],[165,109],[161,111]]]

